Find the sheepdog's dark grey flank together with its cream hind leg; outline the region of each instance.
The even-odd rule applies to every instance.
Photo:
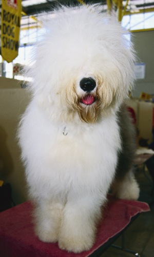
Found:
[[[137,200],[139,185],[134,177],[133,160],[136,151],[136,129],[132,124],[125,105],[118,113],[122,149],[111,186],[113,194],[120,199]]]

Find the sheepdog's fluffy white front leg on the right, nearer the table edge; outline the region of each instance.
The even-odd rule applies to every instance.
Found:
[[[95,241],[97,221],[101,216],[101,205],[92,196],[67,202],[59,234],[59,247],[79,253],[89,250]]]

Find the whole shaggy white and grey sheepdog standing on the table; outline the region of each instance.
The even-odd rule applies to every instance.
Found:
[[[22,159],[36,235],[81,252],[94,244],[109,189],[121,199],[139,196],[124,104],[135,54],[114,14],[98,5],[61,7],[44,23],[28,73]]]

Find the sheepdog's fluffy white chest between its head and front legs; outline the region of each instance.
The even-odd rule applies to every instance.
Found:
[[[26,126],[31,119],[33,126]],[[29,135],[24,145],[26,158],[32,160],[28,165],[34,166],[33,172],[29,172],[30,167],[26,173],[30,184],[37,176],[38,183],[33,183],[36,185],[35,193],[39,190],[38,184],[46,188],[46,193],[53,193],[58,188],[61,194],[71,191],[71,187],[79,191],[86,185],[95,190],[95,187],[101,188],[103,181],[106,181],[105,187],[108,186],[114,176],[121,147],[116,115],[91,125],[80,120],[79,125],[73,122],[55,124],[50,123],[42,112],[31,108],[24,123]]]

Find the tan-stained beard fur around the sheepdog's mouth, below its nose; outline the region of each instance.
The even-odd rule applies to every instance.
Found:
[[[66,95],[66,99],[69,109],[74,112],[77,111],[82,122],[95,123],[101,112],[106,111],[111,103],[114,103],[114,90],[109,85],[104,85],[101,79],[98,81],[97,90],[89,93],[95,98],[95,102],[91,105],[84,105],[81,102],[86,93],[79,95],[76,93],[75,87],[76,85],[73,84],[72,90]]]

